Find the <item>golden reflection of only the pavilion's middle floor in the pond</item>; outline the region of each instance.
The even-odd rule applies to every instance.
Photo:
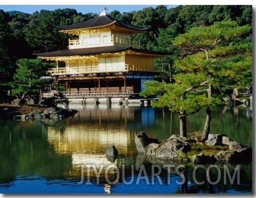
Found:
[[[48,141],[59,154],[101,153],[108,146],[115,145],[122,155],[132,155],[131,146],[134,136],[125,129],[98,128],[95,124],[84,123],[79,126],[67,126],[64,131],[48,128]]]

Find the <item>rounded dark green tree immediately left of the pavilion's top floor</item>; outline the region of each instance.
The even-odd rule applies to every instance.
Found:
[[[59,27],[72,25],[93,18],[90,14],[78,14],[75,9],[41,10],[30,17],[26,26],[25,39],[35,52],[51,52],[67,48],[68,39],[76,38],[59,32]]]

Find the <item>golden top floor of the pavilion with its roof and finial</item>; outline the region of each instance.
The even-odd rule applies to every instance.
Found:
[[[132,40],[131,35],[146,30],[147,28],[129,25],[108,16],[105,9],[96,18],[61,27],[61,32],[77,36],[76,40],[69,40],[69,49],[107,46],[139,48],[140,41]]]

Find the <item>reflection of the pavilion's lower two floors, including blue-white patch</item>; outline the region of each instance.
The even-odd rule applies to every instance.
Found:
[[[74,107],[71,107],[74,108]],[[141,126],[154,123],[154,114],[130,107],[80,106],[78,114],[67,119],[61,129],[48,127],[48,141],[56,153],[105,154],[108,146],[115,145],[120,155],[137,153],[134,133]],[[150,122],[149,122],[150,121]],[[134,124],[132,124],[134,123]],[[131,130],[131,131],[129,131]]]

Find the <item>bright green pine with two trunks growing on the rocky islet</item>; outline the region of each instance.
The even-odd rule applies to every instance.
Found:
[[[223,97],[223,87],[245,87],[252,80],[251,34],[250,25],[238,26],[235,21],[191,28],[173,41],[182,50],[183,57],[175,60],[174,67],[179,71],[174,76],[175,83],[147,82],[148,89],[142,95],[158,95],[159,100],[153,105],[177,111],[183,123],[180,135],[185,134],[185,117],[206,107],[202,136],[205,140],[210,129],[211,109],[218,106]]]

